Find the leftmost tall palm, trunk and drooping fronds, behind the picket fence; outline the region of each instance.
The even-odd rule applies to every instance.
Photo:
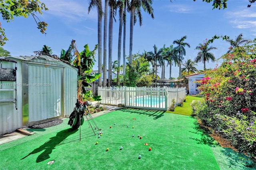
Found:
[[[88,7],[88,14],[90,10],[96,7],[98,10],[98,73],[102,72],[100,65],[102,65],[102,1],[101,0],[91,0]],[[98,86],[102,86],[101,76],[98,79]]]

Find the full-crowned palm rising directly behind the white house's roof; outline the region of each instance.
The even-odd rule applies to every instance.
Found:
[[[208,62],[209,62],[209,60],[215,61],[215,57],[214,57],[213,53],[210,53],[209,51],[212,49],[217,49],[217,48],[212,47],[212,46],[208,47],[208,43],[204,43],[204,44],[200,43],[199,46],[196,47],[196,49],[198,49],[200,51],[196,55],[196,58],[194,61],[196,63],[203,61],[204,70],[205,70],[206,69],[205,61],[208,61]]]

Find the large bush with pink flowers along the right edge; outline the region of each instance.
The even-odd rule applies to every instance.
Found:
[[[221,59],[199,81],[204,100],[195,114],[256,160],[256,39],[253,45],[232,47]]]

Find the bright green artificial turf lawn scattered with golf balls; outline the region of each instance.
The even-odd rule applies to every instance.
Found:
[[[80,131],[71,130],[68,119],[55,127],[30,129],[35,132],[32,136],[0,145],[0,167],[6,170],[219,169],[209,141],[192,117],[122,109],[94,121],[102,128],[103,135],[98,138],[84,122],[81,141]],[[50,160],[55,162],[47,164]]]

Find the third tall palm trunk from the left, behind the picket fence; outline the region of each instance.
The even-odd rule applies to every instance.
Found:
[[[113,6],[110,6],[109,28],[108,28],[108,87],[112,81],[112,42],[113,42]]]

